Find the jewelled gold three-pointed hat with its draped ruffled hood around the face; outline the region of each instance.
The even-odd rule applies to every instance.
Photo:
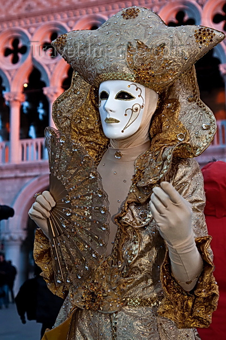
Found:
[[[145,170],[137,185],[157,183],[174,157],[198,156],[213,139],[216,122],[200,100],[194,63],[224,37],[203,26],[168,27],[155,12],[136,6],[95,31],[62,34],[53,46],[75,72],[70,89],[54,102],[56,126],[98,164],[109,142],[99,119],[99,84],[121,79],[155,90],[160,103],[151,119],[151,157],[143,157]]]

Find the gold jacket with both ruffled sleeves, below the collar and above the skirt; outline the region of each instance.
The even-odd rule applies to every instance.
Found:
[[[210,313],[217,301],[217,286],[212,276],[209,238],[202,213],[205,202],[202,175],[194,159],[185,159],[175,162],[169,176],[173,186],[193,205],[193,228],[204,261],[204,270],[194,291],[185,292],[173,279],[164,240],[156,229],[147,201],[130,204],[127,198],[127,212],[116,217],[119,229],[112,255],[103,257],[80,285],[78,281],[54,282],[55,260],[46,261],[46,254],[51,256],[49,242],[41,232],[37,233],[35,260],[54,293],[65,297],[69,292],[71,308],[112,313],[122,306],[160,305],[159,314],[175,321],[179,327],[203,326],[210,322]],[[135,190],[133,186],[131,190]],[[59,242],[61,238],[65,241],[60,236]],[[64,249],[67,263],[66,244]]]

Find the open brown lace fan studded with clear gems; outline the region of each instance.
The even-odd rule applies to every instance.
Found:
[[[56,283],[76,281],[105,257],[108,201],[92,158],[70,136],[45,129],[49,191],[56,201],[48,219]]]

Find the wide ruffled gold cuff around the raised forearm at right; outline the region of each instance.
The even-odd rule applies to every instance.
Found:
[[[213,263],[208,252],[210,240],[210,236],[196,238],[196,246],[204,265],[196,287],[190,292],[183,290],[173,278],[168,252],[166,253],[161,271],[165,298],[158,313],[173,320],[178,328],[208,327],[211,323],[212,312],[217,307],[219,294],[212,275]]]

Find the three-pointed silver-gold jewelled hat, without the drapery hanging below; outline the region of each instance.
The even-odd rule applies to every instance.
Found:
[[[52,44],[91,85],[121,79],[162,92],[224,36],[203,26],[168,27],[150,9],[133,6],[97,30],[62,34]]]

